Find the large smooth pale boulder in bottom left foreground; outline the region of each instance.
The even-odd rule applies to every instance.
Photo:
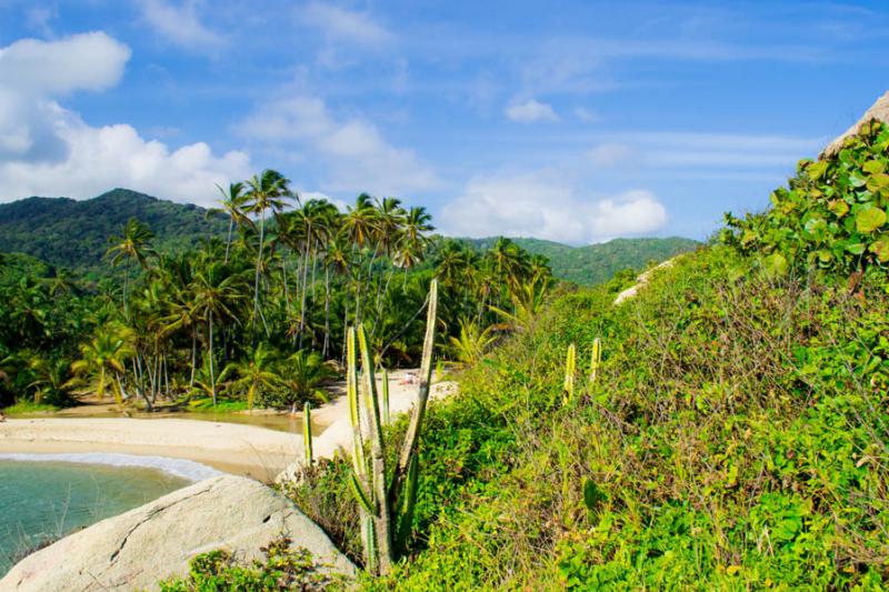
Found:
[[[242,476],[200,481],[66,536],[21,562],[0,591],[156,590],[197,554],[224,549],[250,561],[280,534],[334,572],[354,565],[287,498]]]

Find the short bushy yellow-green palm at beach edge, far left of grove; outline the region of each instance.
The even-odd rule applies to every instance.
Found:
[[[123,385],[121,379],[126,372],[126,361],[133,354],[128,342],[126,330],[106,327],[100,330],[88,343],[80,347],[80,359],[71,364],[71,372],[79,379],[88,377],[92,380],[96,397],[101,401],[107,387],[119,405],[123,404]],[[73,387],[77,381],[69,381],[67,387]],[[149,409],[151,403],[146,400]]]

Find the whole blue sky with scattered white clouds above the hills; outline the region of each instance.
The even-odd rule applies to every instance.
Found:
[[[705,238],[889,89],[887,48],[885,1],[0,0],[0,201],[274,168],[449,234]]]

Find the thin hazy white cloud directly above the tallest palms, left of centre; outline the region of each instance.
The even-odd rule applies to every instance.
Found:
[[[322,183],[326,191],[403,195],[439,184],[436,173],[412,151],[391,146],[369,121],[334,117],[319,98],[298,97],[261,106],[239,130],[318,159],[328,172]]]

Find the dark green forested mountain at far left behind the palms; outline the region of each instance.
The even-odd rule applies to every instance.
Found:
[[[21,252],[80,274],[98,273],[108,239],[130,218],[148,224],[160,250],[181,250],[228,228],[192,204],[163,201],[128,189],[97,198],[28,198],[0,204],[0,252]]]

